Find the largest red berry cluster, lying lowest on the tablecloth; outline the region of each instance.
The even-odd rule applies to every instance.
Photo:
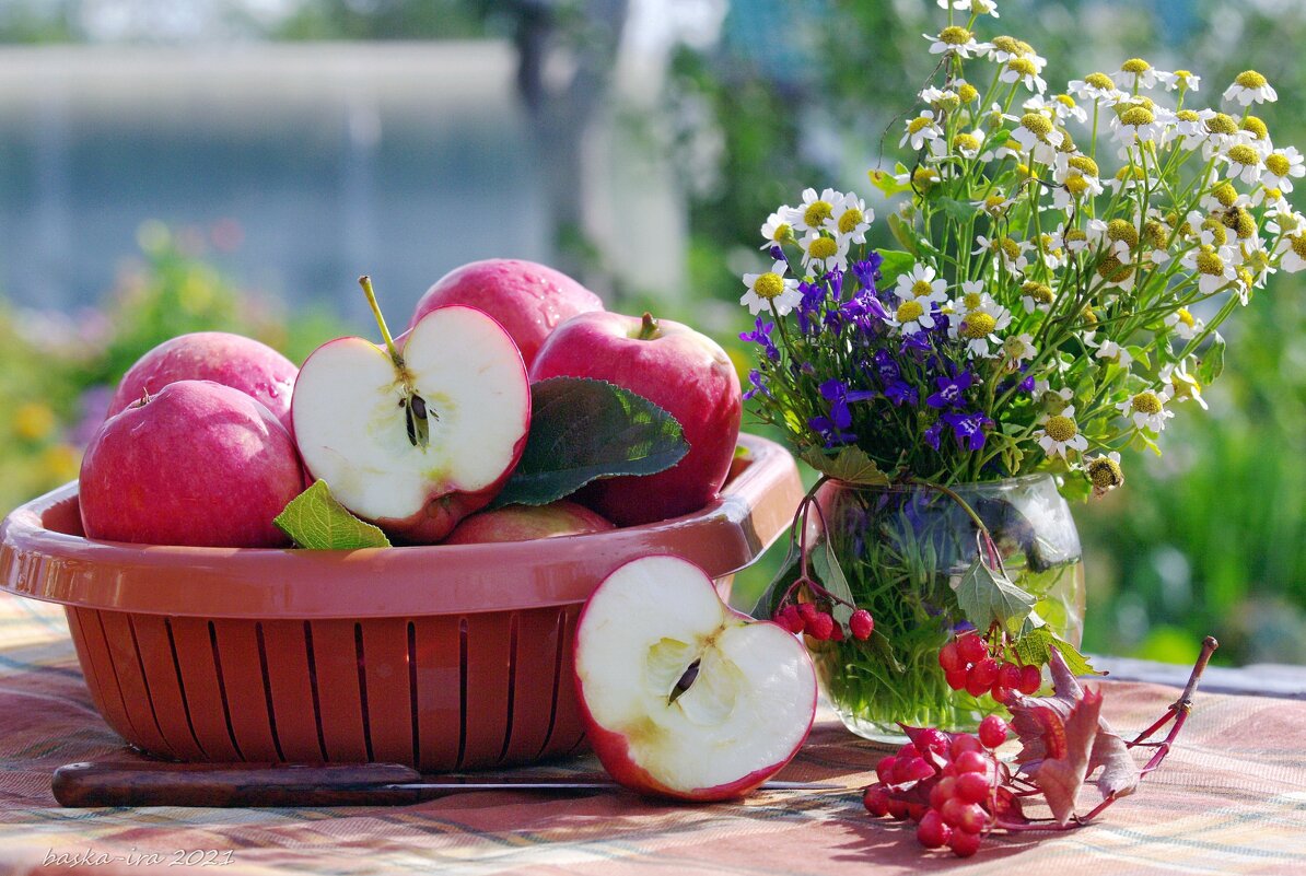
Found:
[[[862,802],[875,816],[912,819],[926,849],[947,846],[959,858],[980,850],[981,837],[1002,812],[1020,808],[1004,785],[1010,770],[993,753],[1007,742],[1007,722],[989,715],[978,736],[934,728],[908,728],[910,743],[875,765],[880,783]],[[905,795],[902,791],[921,789]]]

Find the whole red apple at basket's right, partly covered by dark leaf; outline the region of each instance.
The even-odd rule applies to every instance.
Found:
[[[697,510],[725,483],[743,401],[734,364],[714,341],[671,320],[581,313],[545,342],[530,379],[596,377],[639,393],[680,422],[690,452],[666,471],[598,480],[581,493],[618,526]]]

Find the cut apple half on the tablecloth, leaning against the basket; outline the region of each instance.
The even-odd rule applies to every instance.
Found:
[[[677,556],[632,560],[594,590],[575,662],[594,752],[641,794],[743,796],[793,760],[816,717],[807,649],[733,611]]]

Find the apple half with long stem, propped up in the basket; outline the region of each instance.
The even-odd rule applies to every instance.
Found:
[[[444,538],[512,474],[530,427],[521,354],[470,307],[431,311],[397,341],[337,338],[299,369],[291,399],[308,473],[354,514],[413,543]]]

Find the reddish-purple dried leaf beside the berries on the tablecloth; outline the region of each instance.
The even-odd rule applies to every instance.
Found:
[[[1097,790],[1104,798],[1115,795],[1124,796],[1132,794],[1139,783],[1139,769],[1130,756],[1130,749],[1121,739],[1119,734],[1111,730],[1100,714],[1096,714],[1096,728],[1089,734],[1089,728],[1083,726],[1087,718],[1074,719],[1074,713],[1088,698],[1084,688],[1075,679],[1074,672],[1062,657],[1060,650],[1051,651],[1049,667],[1053,674],[1053,687],[1055,695],[1050,697],[1027,697],[1021,693],[1012,693],[1007,701],[1011,710],[1011,728],[1020,739],[1023,748],[1016,755],[1016,762],[1021,768],[1033,773],[1042,787],[1042,766],[1049,760],[1064,760],[1071,751],[1070,745],[1074,734],[1088,738],[1088,761],[1084,768],[1084,778],[1092,775],[1098,768],[1102,772],[1097,775]],[[1100,696],[1097,697],[1101,698]],[[1100,712],[1098,702],[1097,710]],[[1077,736],[1076,736],[1077,738]],[[1062,744],[1064,740],[1064,744]],[[1066,772],[1054,769],[1050,774],[1054,783],[1059,783],[1064,790]],[[1083,782],[1083,778],[1080,779]],[[1047,792],[1051,804],[1051,794]],[[1077,790],[1077,787],[1075,789]],[[1060,791],[1058,791],[1060,792]],[[1074,803],[1074,795],[1071,795]],[[1054,807],[1054,812],[1055,812]],[[1060,816],[1058,816],[1060,817]]]

